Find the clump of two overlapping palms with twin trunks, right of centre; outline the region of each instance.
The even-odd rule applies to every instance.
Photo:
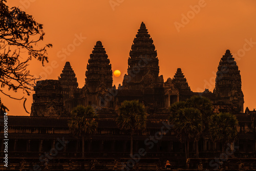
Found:
[[[209,118],[213,114],[211,101],[205,97],[193,96],[186,101],[173,103],[169,111],[168,119],[174,124],[176,136],[180,142],[185,143],[186,158],[189,156],[191,141],[196,142],[198,158],[198,141],[203,135],[208,136]]]

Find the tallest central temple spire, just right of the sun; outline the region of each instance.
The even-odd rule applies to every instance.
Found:
[[[149,82],[156,82],[159,74],[157,51],[143,22],[133,43],[128,59],[128,75],[124,76],[123,86],[126,88],[140,89],[141,83],[148,84]],[[144,79],[143,76],[145,76]],[[150,81],[146,81],[145,79],[147,78]]]

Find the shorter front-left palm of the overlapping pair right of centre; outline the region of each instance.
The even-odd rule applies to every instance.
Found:
[[[179,103],[179,104],[178,104]],[[170,110],[176,108],[181,102],[170,106]],[[183,103],[183,102],[182,102]],[[179,108],[171,112],[169,120],[174,124],[176,136],[181,143],[185,143],[186,159],[189,157],[189,142],[198,141],[203,131],[202,114],[195,108]]]

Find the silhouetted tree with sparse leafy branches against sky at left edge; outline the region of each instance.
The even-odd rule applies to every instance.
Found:
[[[24,11],[16,7],[6,5],[7,0],[0,0],[0,83],[1,88],[8,87],[9,91],[17,92],[23,90],[24,93],[30,95],[33,83],[36,79],[27,69],[29,61],[32,58],[42,62],[48,62],[47,48],[52,47],[51,44],[37,49],[37,42],[44,39],[44,31],[42,25],[38,24],[32,15],[26,14]],[[25,49],[28,55],[23,59],[20,49]],[[22,100],[26,98],[15,98],[0,90],[4,95],[10,98]],[[24,103],[25,103],[24,101]],[[1,110],[8,110],[3,103],[0,104]],[[24,104],[25,108],[25,104]],[[25,108],[26,110],[26,108]],[[27,110],[26,110],[27,112]]]

